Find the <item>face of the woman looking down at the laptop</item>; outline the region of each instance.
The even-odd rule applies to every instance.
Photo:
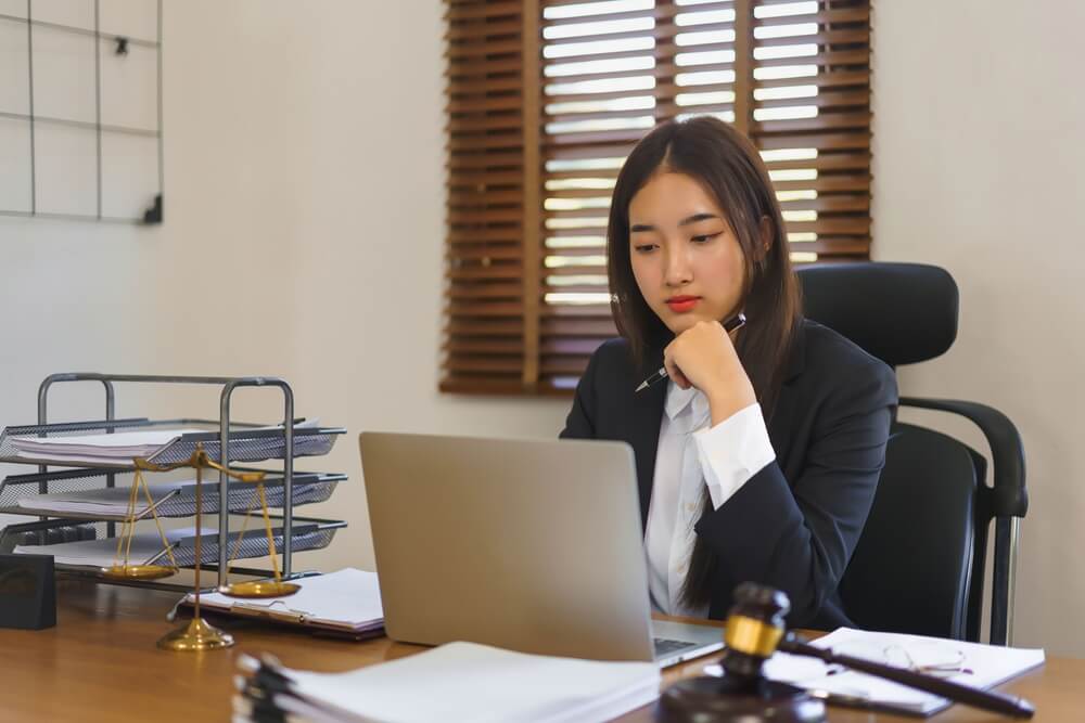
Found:
[[[739,311],[742,248],[716,201],[685,173],[656,173],[629,202],[629,257],[640,294],[676,336]]]

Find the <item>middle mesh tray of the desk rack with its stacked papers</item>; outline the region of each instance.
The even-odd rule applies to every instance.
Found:
[[[66,519],[124,521],[127,518],[130,473],[116,473],[115,488],[106,487],[106,475],[98,470],[67,470],[31,475],[12,475],[0,482],[0,513],[63,517]],[[346,475],[295,472],[292,490],[294,506],[328,500]],[[149,485],[155,512],[159,517],[191,517],[196,513],[195,480],[155,482]],[[44,489],[41,493],[39,490]],[[264,480],[268,507],[281,508],[284,483],[281,474],[271,473]],[[228,506],[232,513],[258,512],[256,485],[229,481]],[[217,475],[204,478],[203,513],[219,511]],[[150,505],[141,492],[136,504],[136,518],[150,518]]]

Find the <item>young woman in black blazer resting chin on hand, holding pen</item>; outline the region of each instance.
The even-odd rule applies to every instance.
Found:
[[[789,595],[791,624],[847,624],[837,585],[896,380],[803,318],[756,149],[714,118],[658,127],[618,175],[607,243],[622,337],[592,356],[561,436],[633,447],[653,607],[724,618],[752,580]],[[669,379],[635,391],[661,365]]]

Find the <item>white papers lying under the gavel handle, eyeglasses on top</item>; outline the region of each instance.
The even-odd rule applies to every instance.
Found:
[[[991,688],[1044,664],[1042,649],[1009,648],[962,641],[872,633],[840,628],[810,645],[832,648],[840,655],[909,668],[976,688]],[[719,674],[719,666],[705,672]],[[765,662],[765,675],[792,683],[828,702],[883,708],[918,715],[933,715],[950,701],[873,675],[857,673],[815,658],[777,653]]]

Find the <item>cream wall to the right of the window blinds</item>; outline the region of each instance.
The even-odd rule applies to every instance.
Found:
[[[1078,656],[1083,26],[1075,0],[882,0],[873,36],[875,256],[942,266],[961,295],[957,343],[903,370],[901,389],[984,401],[1018,425],[1016,643]]]

